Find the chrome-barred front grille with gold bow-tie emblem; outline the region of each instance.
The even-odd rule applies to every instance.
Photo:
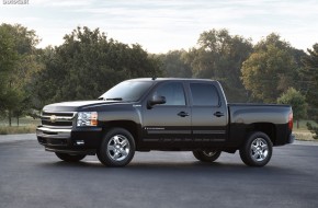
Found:
[[[43,126],[72,127],[75,112],[43,112],[41,116]]]

